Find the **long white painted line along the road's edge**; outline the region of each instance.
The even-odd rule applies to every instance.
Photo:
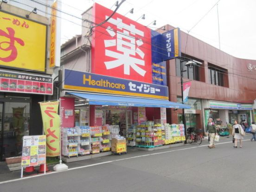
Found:
[[[243,140],[243,141],[250,141],[250,139]],[[226,143],[231,143],[231,142],[232,141],[216,143],[215,145],[226,144]],[[187,149],[193,149],[193,148],[198,148],[198,147],[206,147],[206,146],[208,146],[208,144],[207,145],[199,145],[199,146],[195,146],[195,147],[182,148],[182,149],[175,149],[175,150],[171,150],[171,151],[164,151],[164,152],[159,152],[159,153],[154,153],[154,154],[138,155],[138,156],[123,158],[123,159],[119,159],[119,160],[109,160],[109,161],[104,161],[104,162],[101,162],[101,163],[95,163],[95,164],[86,165],[86,166],[73,167],[73,168],[68,169],[67,171],[82,169],[82,168],[86,168],[86,167],[90,167],[90,166],[98,166],[98,165],[113,163],[113,162],[122,161],[122,160],[130,160],[130,159],[135,159],[135,158],[147,157],[147,156],[151,156],[151,155],[166,154],[166,153],[172,153],[172,152],[176,152],[176,151],[184,151],[184,150],[187,150]],[[66,171],[61,171],[61,172],[66,172]],[[34,177],[41,177],[41,176],[45,176],[45,175],[49,175],[49,174],[55,174],[55,173],[61,173],[61,172],[50,172],[50,173],[46,173],[46,174],[39,174],[39,175],[27,176],[27,177],[19,178],[19,179],[12,179],[12,180],[7,180],[7,181],[2,181],[2,182],[0,182],[0,185],[4,184],[4,183],[10,183],[10,182],[14,182],[14,181],[30,179],[30,178],[34,178]]]

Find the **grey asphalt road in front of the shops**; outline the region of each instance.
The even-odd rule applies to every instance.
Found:
[[[254,192],[256,142],[233,148],[230,141],[84,160],[69,171],[2,183],[0,192]]]

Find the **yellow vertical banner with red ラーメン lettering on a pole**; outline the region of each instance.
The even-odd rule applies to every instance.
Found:
[[[60,117],[58,115],[59,102],[39,102],[41,107],[44,131],[46,135],[46,156],[60,155]]]

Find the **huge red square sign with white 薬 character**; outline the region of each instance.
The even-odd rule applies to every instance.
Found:
[[[93,22],[101,23],[112,13],[95,3]],[[92,73],[152,83],[150,29],[115,13],[93,32],[91,65]]]

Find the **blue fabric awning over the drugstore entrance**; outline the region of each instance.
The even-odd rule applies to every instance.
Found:
[[[177,109],[190,109],[189,105],[170,102],[160,99],[144,99],[125,96],[107,96],[97,94],[85,94],[67,92],[70,95],[77,96],[83,99],[88,99],[91,105],[112,105],[112,106],[127,106],[127,107],[164,107]]]

